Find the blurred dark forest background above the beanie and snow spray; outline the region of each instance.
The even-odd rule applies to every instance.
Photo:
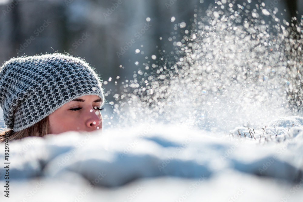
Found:
[[[263,2],[268,9],[277,7],[284,13],[281,19],[289,22],[291,16],[300,19],[303,14],[302,0]],[[256,3],[261,1],[251,0]],[[174,55],[173,42],[190,30],[195,12],[210,4],[215,1],[0,0],[0,66],[18,55],[68,52],[96,68],[108,81],[106,99],[114,101],[121,82],[132,79],[134,71],[157,63],[163,50]]]

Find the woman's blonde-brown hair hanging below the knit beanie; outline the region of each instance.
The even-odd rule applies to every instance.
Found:
[[[15,139],[21,139],[24,137],[43,137],[48,134],[49,131],[49,125],[48,125],[48,116],[39,121],[38,123],[25,128],[22,131],[14,132],[10,129],[4,129],[3,131],[0,131],[0,143],[8,138],[9,141],[15,140]]]

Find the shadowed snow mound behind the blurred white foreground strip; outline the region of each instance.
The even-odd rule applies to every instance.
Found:
[[[10,179],[59,179],[74,173],[94,185],[116,187],[138,178],[209,178],[233,170],[298,182],[303,170],[302,120],[284,117],[273,121],[266,131],[273,126],[285,130],[266,141],[261,131],[254,139],[175,125],[141,125],[103,134],[66,132],[44,138],[27,137],[9,143]],[[240,133],[246,130],[237,129]],[[279,139],[280,136],[288,138]],[[0,158],[5,158],[3,153]]]

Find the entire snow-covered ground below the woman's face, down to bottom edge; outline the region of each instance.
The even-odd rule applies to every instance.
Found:
[[[249,131],[146,124],[11,141],[1,201],[301,201],[303,118]]]

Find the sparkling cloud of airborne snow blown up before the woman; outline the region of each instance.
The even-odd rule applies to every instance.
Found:
[[[201,10],[187,28],[178,23],[175,51],[161,52],[115,95],[119,123],[212,131],[300,113],[303,20],[280,20],[277,8],[250,0]]]

